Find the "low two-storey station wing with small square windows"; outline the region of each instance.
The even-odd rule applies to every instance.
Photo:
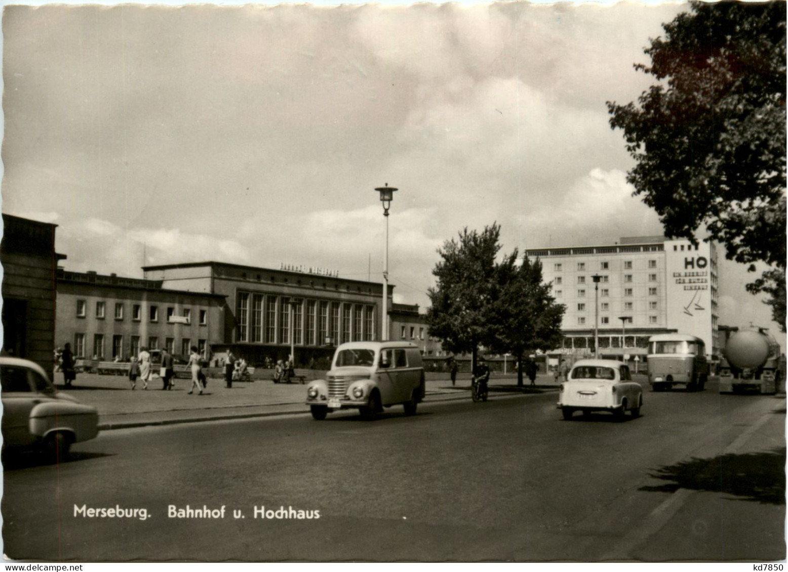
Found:
[[[56,343],[71,342],[78,358],[127,361],[143,346],[188,356],[194,345],[207,359],[211,345],[223,341],[220,294],[62,268],[57,290]]]

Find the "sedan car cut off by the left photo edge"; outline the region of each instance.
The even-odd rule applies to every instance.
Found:
[[[55,460],[99,434],[99,414],[57,391],[32,361],[0,357],[3,448],[43,448]]]

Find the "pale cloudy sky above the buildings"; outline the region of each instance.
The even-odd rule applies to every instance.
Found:
[[[437,248],[662,234],[605,101],[685,4],[6,6],[2,211],[69,270],[143,260],[333,268],[428,304]],[[720,323],[772,327],[723,264]]]

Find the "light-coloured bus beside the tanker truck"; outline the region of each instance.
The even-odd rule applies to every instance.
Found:
[[[687,334],[657,334],[649,338],[649,383],[653,391],[676,384],[702,391],[708,380],[706,348],[701,338]]]

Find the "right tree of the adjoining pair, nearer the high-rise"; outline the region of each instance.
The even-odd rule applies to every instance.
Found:
[[[507,260],[516,259],[517,249]],[[542,282],[539,259],[532,261],[526,256],[519,268],[502,264],[502,271],[509,276],[493,308],[493,320],[499,327],[491,348],[517,357],[517,385],[522,386],[524,357],[537,349],[544,351],[561,345],[561,320],[566,306],[556,304],[552,286]]]

